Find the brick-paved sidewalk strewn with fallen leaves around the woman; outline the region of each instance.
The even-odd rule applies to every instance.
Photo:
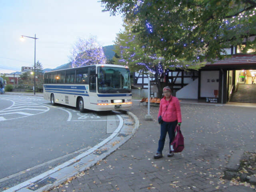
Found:
[[[160,126],[158,107],[133,101],[129,110],[140,120],[138,131],[118,150],[51,192],[250,192],[252,185],[223,180],[226,165],[239,150],[256,152],[255,108],[181,103],[182,153],[155,160]],[[246,185],[246,186],[244,186]]]

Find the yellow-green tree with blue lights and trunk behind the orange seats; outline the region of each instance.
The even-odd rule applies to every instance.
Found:
[[[124,32],[117,34],[115,41],[115,64],[128,65],[132,72],[143,70],[147,75],[154,76],[158,88],[158,97],[161,97],[162,88],[166,85],[160,82],[160,78],[166,76],[169,70],[175,70],[175,66],[166,64],[166,60],[162,55],[146,52],[145,47],[140,46],[140,39],[138,39],[137,33],[132,32],[132,22],[126,21],[123,26]],[[181,63],[180,65],[182,65],[184,61],[176,60],[175,63]],[[200,64],[187,62],[182,68],[198,69],[200,66]]]

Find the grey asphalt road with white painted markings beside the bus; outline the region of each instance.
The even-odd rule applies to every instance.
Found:
[[[0,97],[0,187],[14,186],[78,156],[118,126],[112,112],[80,113],[35,96]]]

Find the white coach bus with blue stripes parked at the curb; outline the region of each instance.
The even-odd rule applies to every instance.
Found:
[[[132,106],[128,67],[95,64],[44,73],[44,99],[87,110],[108,111]]]

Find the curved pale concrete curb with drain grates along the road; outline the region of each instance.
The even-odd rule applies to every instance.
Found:
[[[80,172],[90,169],[97,162],[112,154],[134,135],[140,124],[139,119],[132,112],[126,111],[126,114],[121,114],[118,111],[115,112],[122,117],[122,120],[120,120],[122,127],[117,128],[109,136],[110,139],[106,143],[99,143],[76,158],[57,166],[54,170],[50,170],[48,174],[45,172],[3,192],[43,192],[50,190]],[[130,117],[134,123],[130,121]]]

